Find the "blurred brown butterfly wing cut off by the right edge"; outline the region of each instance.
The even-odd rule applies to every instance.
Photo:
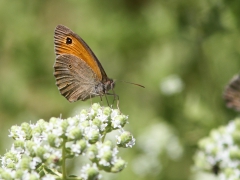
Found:
[[[225,88],[223,98],[228,108],[240,111],[240,75],[235,75]]]

